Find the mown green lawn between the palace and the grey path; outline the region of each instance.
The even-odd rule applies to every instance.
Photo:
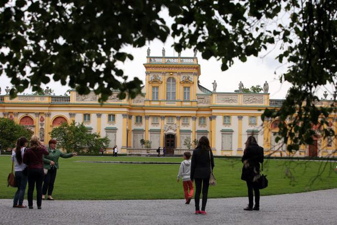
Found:
[[[176,182],[179,165],[138,165],[75,163],[76,160],[118,160],[181,162],[182,158],[77,156],[60,158],[60,169],[53,192],[57,200],[183,199],[181,181]],[[269,186],[261,195],[277,195],[337,187],[337,163],[266,160],[264,171]],[[318,172],[322,171],[318,176]],[[0,156],[0,199],[12,199],[16,188],[7,187],[10,156]],[[247,196],[240,179],[240,159],[215,158],[217,186],[210,187],[210,198]],[[317,178],[313,183],[313,179]],[[26,198],[26,197],[25,197]]]

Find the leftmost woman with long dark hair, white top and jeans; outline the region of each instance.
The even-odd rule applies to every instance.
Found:
[[[22,162],[22,157],[25,153],[28,140],[25,137],[21,137],[16,141],[16,147],[12,151],[12,161],[15,163],[15,180],[18,189],[15,192],[13,207],[14,208],[26,208],[23,205],[24,193],[27,185],[26,164]]]

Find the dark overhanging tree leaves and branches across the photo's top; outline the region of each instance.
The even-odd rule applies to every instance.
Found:
[[[159,13],[162,8],[173,18],[170,28]],[[100,101],[112,89],[120,90],[121,99],[126,93],[134,98],[142,82],[126,81],[117,66],[133,59],[121,51],[125,45],[143,47],[171,35],[177,52],[196,48],[205,59],[221,60],[224,71],[234,59],[245,62],[281,43],[277,58],[288,66],[281,82],[294,88],[281,109],[266,110],[262,118],[290,118],[280,135],[292,141],[288,150],[298,149],[312,140],[308,124],[326,124],[335,110],[334,103],[316,107],[314,92],[327,83],[337,89],[336,10],[337,1],[312,0],[5,0],[0,4],[0,48],[6,50],[0,53],[0,73],[11,78],[12,97],[29,84],[38,90],[50,75],[62,85],[68,80],[72,88],[78,84],[80,94],[94,89]],[[279,22],[281,16],[288,23]]]

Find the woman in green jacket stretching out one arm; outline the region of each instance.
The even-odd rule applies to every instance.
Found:
[[[48,190],[48,200],[54,200],[51,197],[51,195],[53,193],[56,172],[58,169],[58,158],[59,157],[70,158],[77,155],[76,152],[64,154],[55,147],[56,147],[56,140],[55,139],[50,140],[48,147],[49,155],[46,155],[43,158],[44,163],[43,168],[45,171],[48,170],[48,172],[47,174],[45,172],[45,178],[42,187],[42,199],[45,199]]]

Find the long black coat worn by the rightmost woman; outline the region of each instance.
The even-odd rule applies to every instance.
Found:
[[[260,173],[260,163],[263,163],[263,148],[257,144],[250,145],[245,150],[241,162],[244,164],[241,179],[253,181],[253,178]]]

